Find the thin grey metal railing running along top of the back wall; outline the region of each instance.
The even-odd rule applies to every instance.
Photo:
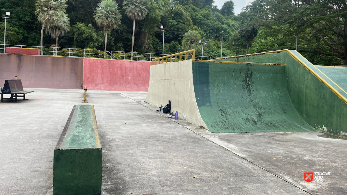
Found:
[[[44,56],[68,56],[68,57],[81,57],[81,58],[107,58],[118,60],[131,60],[133,54],[133,60],[135,61],[152,61],[154,58],[167,56],[170,54],[159,53],[141,53],[141,52],[124,52],[124,51],[101,51],[96,49],[79,49],[79,48],[61,48],[61,47],[47,47],[47,46],[32,46],[32,45],[11,45],[6,44],[6,47],[17,48],[36,48],[40,49],[40,55]],[[0,44],[0,53],[5,53],[5,45]],[[41,54],[42,53],[42,54]],[[188,54],[191,59],[192,55]],[[211,60],[218,57],[206,57],[195,56],[194,59]]]

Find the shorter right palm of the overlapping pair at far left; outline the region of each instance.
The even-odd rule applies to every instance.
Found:
[[[70,26],[70,19],[67,17],[67,14],[64,12],[64,14],[61,15],[60,23],[58,25],[56,24],[49,24],[46,27],[46,33],[52,36],[52,38],[56,38],[56,55],[58,51],[58,37],[63,36],[65,32],[69,30]]]

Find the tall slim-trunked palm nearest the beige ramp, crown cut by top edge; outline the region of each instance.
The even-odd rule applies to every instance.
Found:
[[[131,59],[134,52],[134,35],[135,35],[135,20],[142,20],[148,13],[149,3],[146,0],[125,0],[123,9],[125,14],[134,21],[133,23],[133,40],[131,44]]]

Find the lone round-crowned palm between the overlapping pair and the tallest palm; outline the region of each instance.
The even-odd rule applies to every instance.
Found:
[[[105,54],[107,45],[107,29],[112,30],[120,24],[121,15],[118,10],[119,6],[113,0],[102,0],[94,12],[94,20],[99,27],[105,32]],[[104,56],[106,58],[106,55]]]

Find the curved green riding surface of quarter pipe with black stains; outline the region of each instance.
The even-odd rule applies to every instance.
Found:
[[[285,66],[192,62],[197,106],[211,132],[312,132],[293,107]]]

